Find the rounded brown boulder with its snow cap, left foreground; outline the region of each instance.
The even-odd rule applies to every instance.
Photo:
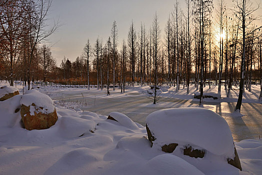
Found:
[[[55,124],[57,114],[49,96],[31,89],[22,96],[20,104],[21,118],[27,130],[47,129]]]

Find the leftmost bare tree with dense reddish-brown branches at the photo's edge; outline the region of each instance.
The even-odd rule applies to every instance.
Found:
[[[7,2],[8,1],[8,2]],[[0,2],[0,49],[9,67],[10,85],[19,60],[19,44],[24,34],[24,0],[4,0]]]

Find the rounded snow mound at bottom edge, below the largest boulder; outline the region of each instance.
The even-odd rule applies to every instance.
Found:
[[[157,155],[150,159],[144,168],[144,174],[204,174],[192,164],[172,154]]]

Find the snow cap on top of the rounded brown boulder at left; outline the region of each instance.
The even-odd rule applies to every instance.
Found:
[[[45,114],[51,113],[54,111],[53,100],[43,93],[35,89],[28,90],[20,100],[20,104],[25,106],[30,106],[34,103],[37,107],[42,107],[43,109],[37,108],[37,112],[42,112]]]

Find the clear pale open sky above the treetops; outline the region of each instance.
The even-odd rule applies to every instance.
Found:
[[[180,6],[185,7],[184,0]],[[175,0],[53,0],[49,11],[49,22],[59,20],[62,24],[49,38],[51,51],[60,65],[63,56],[74,61],[80,56],[87,39],[91,45],[97,37],[103,43],[111,33],[115,20],[118,28],[118,43],[127,40],[133,20],[136,31],[142,23],[148,30],[157,12],[161,35]],[[186,9],[184,9],[186,10]]]

